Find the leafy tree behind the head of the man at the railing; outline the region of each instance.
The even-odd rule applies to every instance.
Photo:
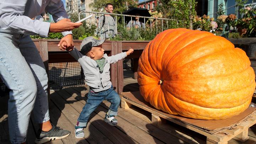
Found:
[[[126,2],[129,7],[134,7],[136,5],[135,0],[94,0],[89,6],[92,7],[93,11],[100,11],[103,9],[103,12],[105,12],[105,4],[111,3],[114,7],[113,12],[121,14],[126,11]]]

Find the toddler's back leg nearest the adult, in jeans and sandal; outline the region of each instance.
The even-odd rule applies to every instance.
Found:
[[[106,92],[98,92],[95,93],[91,89],[89,90],[89,93],[87,95],[87,101],[85,103],[85,106],[82,108],[82,111],[80,113],[80,116],[78,117],[78,122],[75,126],[75,137],[76,138],[83,138],[84,132],[82,131],[83,128],[86,128],[87,121],[91,115],[92,112],[100,105],[100,103],[104,100],[106,96]]]

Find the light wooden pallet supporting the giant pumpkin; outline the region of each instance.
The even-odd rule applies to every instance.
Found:
[[[227,144],[230,139],[245,142],[247,139],[249,139],[249,127],[256,124],[256,110],[254,108],[254,110],[250,111],[249,115],[245,116],[240,121],[228,127],[219,128],[209,132],[205,129],[193,126],[192,124],[185,123],[180,119],[170,117],[170,114],[152,108],[149,103],[148,105],[142,104],[147,102],[141,100],[140,98],[138,101],[135,100],[134,98],[137,98],[138,96],[140,96],[139,92],[122,92],[120,95],[120,97],[122,97],[121,107],[130,113],[141,117],[142,119],[144,119],[143,117],[146,117],[145,113],[151,113],[151,122],[149,123],[152,123],[162,129],[165,129],[168,125],[166,122],[170,121],[196,133],[202,134],[207,137],[207,144]]]

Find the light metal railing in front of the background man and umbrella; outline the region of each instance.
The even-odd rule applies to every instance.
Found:
[[[123,14],[113,14],[113,13],[106,13],[106,12],[95,12],[95,11],[80,11],[79,14],[78,14],[78,19],[80,20],[80,15],[81,13],[88,13],[88,14],[95,14],[95,15],[98,15],[99,17],[99,22],[98,22],[98,27],[100,26],[100,16],[102,15],[113,15],[116,17],[116,32],[117,32],[117,16],[121,16],[123,17],[123,25],[124,25],[124,28],[126,27],[126,23],[125,23],[125,17],[130,17],[131,18],[131,22],[132,22],[132,17],[139,17],[139,18],[144,18],[144,30],[146,29],[146,21],[145,21],[145,18],[149,18],[150,19],[150,29],[152,29],[152,19],[153,20],[156,20],[156,32],[158,32],[158,20],[161,20],[161,23],[162,23],[162,31],[164,31],[164,20],[166,21],[166,24],[167,24],[167,29],[168,29],[168,21],[176,21],[176,23],[178,24],[178,20],[175,20],[175,19],[170,19],[170,18],[156,18],[156,17],[146,17],[146,16],[135,16],[135,15],[123,15]],[[139,22],[139,19],[138,19],[138,22]],[[97,23],[97,21],[96,21]],[[91,24],[91,19],[90,19],[90,24]],[[131,23],[131,28],[132,28],[132,25],[133,23]],[[108,23],[108,33],[109,33],[109,23]]]

